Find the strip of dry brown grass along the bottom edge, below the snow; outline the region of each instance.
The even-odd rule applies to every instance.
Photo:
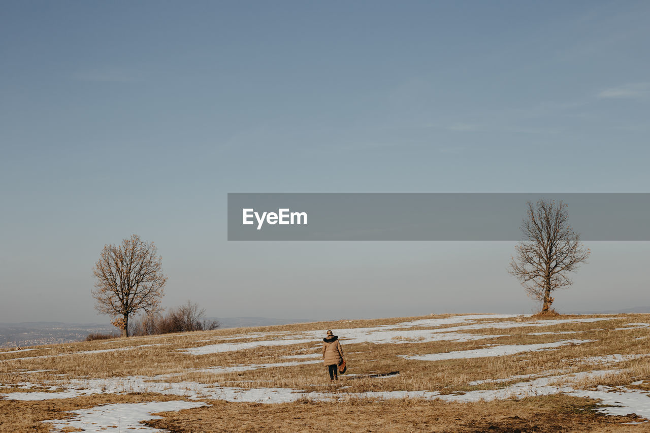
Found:
[[[473,404],[426,400],[213,406],[168,413],[149,426],[172,432],[638,432],[636,417],[593,412],[593,402],[566,396]],[[233,422],[236,420],[235,422]]]

